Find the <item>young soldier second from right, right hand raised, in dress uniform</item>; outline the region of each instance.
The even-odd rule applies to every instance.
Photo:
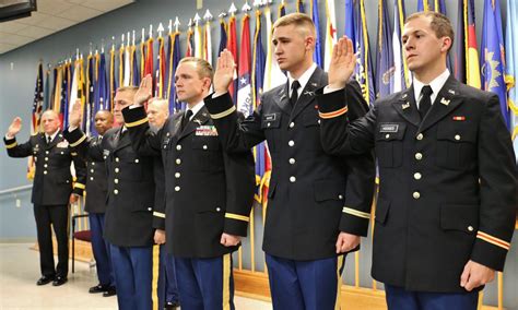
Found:
[[[273,308],[335,309],[344,253],[367,235],[373,156],[342,160],[323,153],[315,91],[327,84],[327,74],[313,62],[311,19],[299,13],[279,19],[272,41],[280,68],[289,72],[285,85],[264,93],[257,110],[239,123],[227,92],[234,61],[224,51],[215,94],[205,105],[229,154],[268,142],[273,167],[262,248]],[[345,97],[353,115],[368,110],[356,82],[349,84]]]

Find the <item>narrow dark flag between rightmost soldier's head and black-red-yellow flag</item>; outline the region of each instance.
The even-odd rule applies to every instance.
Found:
[[[466,83],[466,45],[464,45],[464,34],[466,34],[466,24],[464,24],[464,2],[458,2],[457,11],[457,29],[455,32],[455,46],[452,50],[452,73],[455,79],[461,83]]]

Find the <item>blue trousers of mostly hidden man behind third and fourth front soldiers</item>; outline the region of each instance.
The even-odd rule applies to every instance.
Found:
[[[160,246],[157,290],[158,309],[164,309],[165,302],[175,303],[179,301],[174,258],[166,253],[164,245]]]

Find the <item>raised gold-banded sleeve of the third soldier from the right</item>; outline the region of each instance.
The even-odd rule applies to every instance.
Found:
[[[131,146],[140,156],[161,156],[160,136],[162,130],[157,133],[150,130],[148,115],[144,107],[129,107],[122,109],[126,128],[129,131]]]

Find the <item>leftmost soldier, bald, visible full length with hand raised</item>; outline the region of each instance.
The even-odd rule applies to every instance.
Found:
[[[45,285],[54,281],[52,285],[59,286],[67,282],[69,204],[75,203],[85,188],[84,162],[71,151],[59,126],[58,115],[52,110],[47,110],[42,115],[44,132],[36,133],[27,142],[17,144],[15,135],[22,128],[22,120],[16,117],[4,138],[10,157],[34,156],[36,172],[31,202],[34,204],[42,271],[42,278],[37,281],[37,285]],[[73,182],[70,172],[72,162],[75,168],[75,182]],[[57,267],[54,264],[50,224],[52,224],[58,241],[59,261]]]

